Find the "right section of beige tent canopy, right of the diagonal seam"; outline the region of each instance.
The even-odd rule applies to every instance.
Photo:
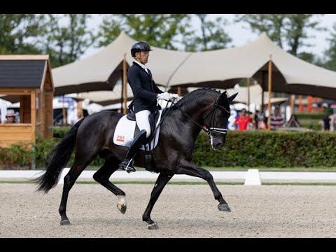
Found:
[[[241,78],[256,78],[267,90],[269,55],[272,55],[272,91],[336,99],[336,72],[290,55],[262,33],[237,48],[195,52],[172,76],[169,86],[234,87]]]

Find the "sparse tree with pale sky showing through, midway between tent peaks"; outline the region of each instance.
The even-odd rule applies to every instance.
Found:
[[[218,17],[215,21],[207,20],[209,14],[194,14],[200,20],[201,35],[197,36],[197,30],[183,34],[185,50],[206,51],[226,48],[232,40],[223,27],[228,25],[225,18]]]

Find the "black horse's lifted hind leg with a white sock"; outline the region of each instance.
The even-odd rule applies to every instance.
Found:
[[[121,213],[125,214],[127,209],[125,192],[109,181],[113,172],[119,168],[119,163],[120,161],[116,158],[106,158],[104,165],[93,174],[93,179],[118,197],[117,207]]]

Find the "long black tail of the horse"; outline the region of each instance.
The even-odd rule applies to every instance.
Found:
[[[34,182],[38,183],[38,191],[44,190],[45,193],[48,193],[51,188],[57,185],[59,175],[68,163],[71,153],[75,148],[78,127],[83,123],[84,119],[79,120],[73,125],[62,141],[48,154],[47,161],[45,162],[45,173],[34,179]]]

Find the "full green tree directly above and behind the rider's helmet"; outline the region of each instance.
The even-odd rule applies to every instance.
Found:
[[[111,14],[105,15],[98,33],[98,47],[109,45],[121,31],[137,41],[176,50],[179,34],[188,34],[189,15],[186,14]]]

